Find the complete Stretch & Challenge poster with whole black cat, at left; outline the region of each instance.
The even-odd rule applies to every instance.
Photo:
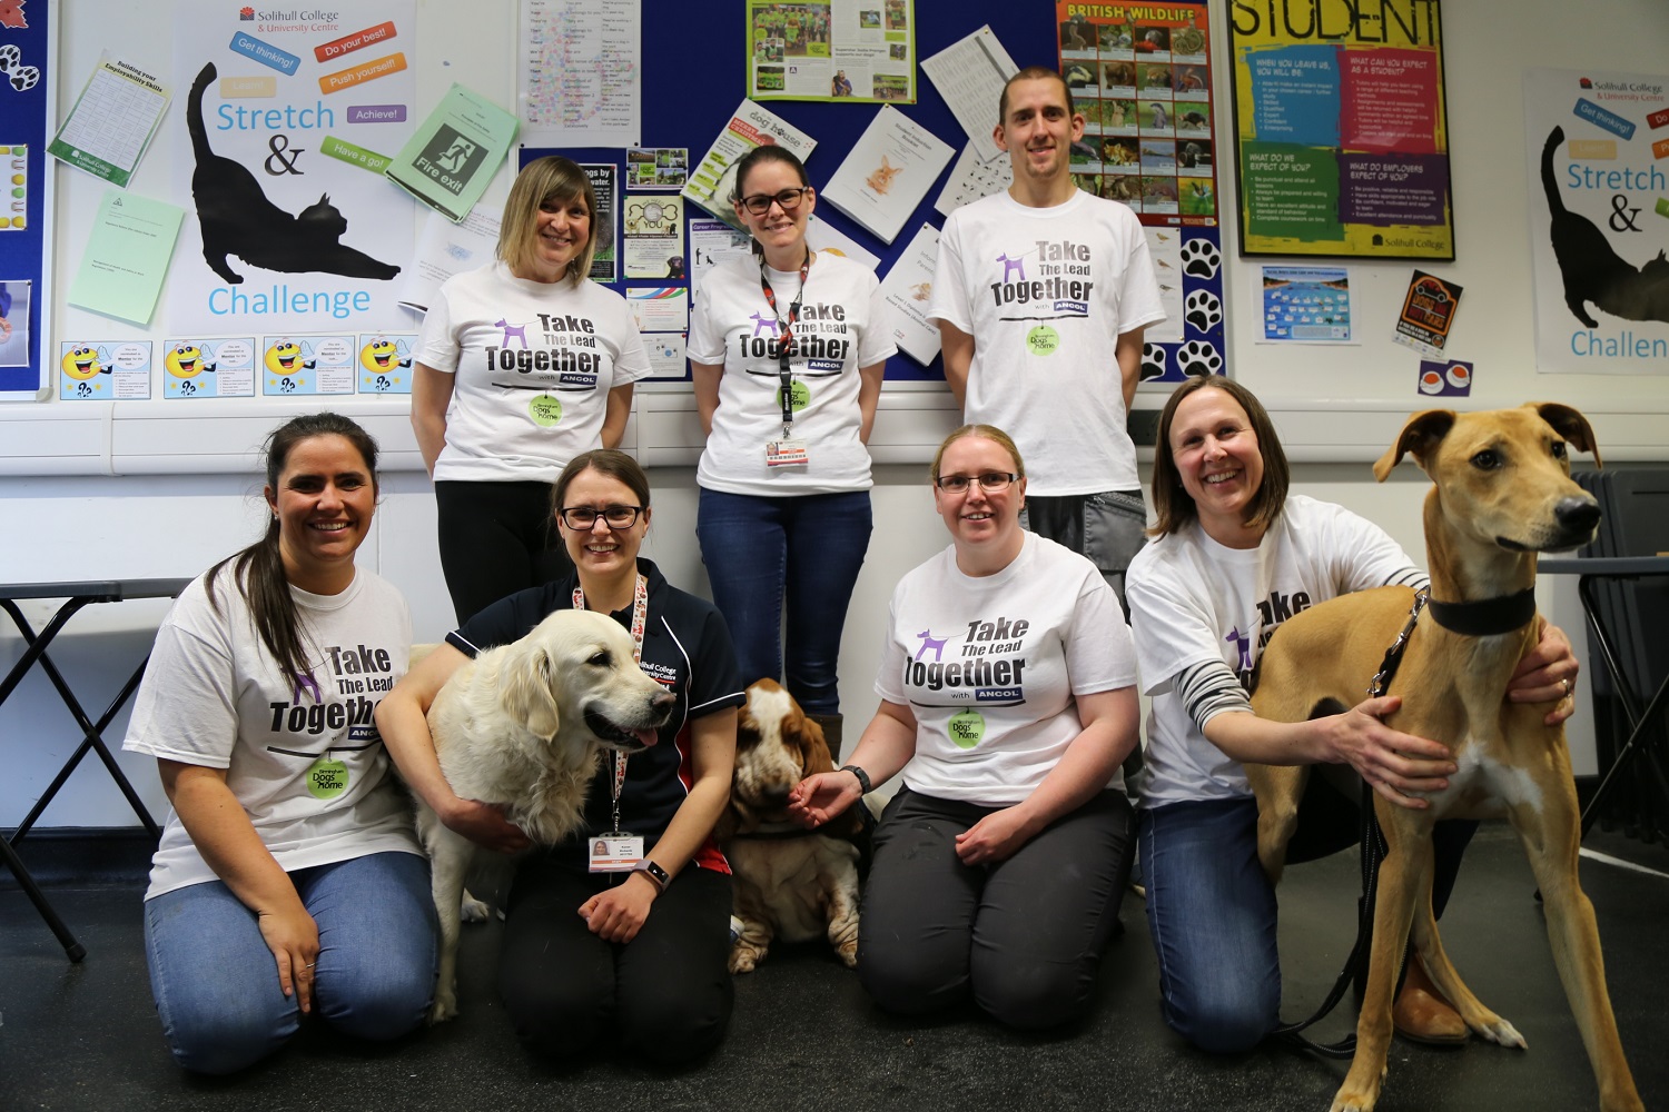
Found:
[[[175,32],[169,325],[194,335],[409,323],[412,200],[381,163],[412,133],[416,3],[194,0]]]

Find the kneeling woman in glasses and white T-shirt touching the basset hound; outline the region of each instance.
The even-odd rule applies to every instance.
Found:
[[[971,999],[1051,1027],[1090,1007],[1130,874],[1135,652],[1095,565],[1020,528],[1006,433],[953,432],[933,487],[951,543],[893,592],[880,710],[789,809],[819,825],[901,770],[858,920],[865,989],[890,1012]]]

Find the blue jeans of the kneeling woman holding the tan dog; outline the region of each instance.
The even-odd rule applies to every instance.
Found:
[[[1257,860],[1257,800],[1143,810],[1140,852],[1165,1022],[1202,1050],[1250,1050],[1280,1022],[1275,889]]]

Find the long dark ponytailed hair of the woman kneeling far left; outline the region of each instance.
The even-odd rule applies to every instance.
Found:
[[[372,490],[376,490],[377,442],[357,422],[340,413],[304,413],[272,430],[265,443],[269,488],[279,488],[279,477],[290,458],[290,450],[314,437],[342,437],[352,443],[364,458]],[[215,614],[220,614],[215,579],[229,564],[232,565],[232,582],[249,605],[260,644],[267,647],[290,684],[299,685],[300,679],[309,674],[307,649],[302,644],[295,597],[290,595],[290,580],[284,574],[284,557],[279,552],[277,515],[267,523],[267,532],[260,540],[209,569],[204,585],[209,589],[209,605],[214,607]]]

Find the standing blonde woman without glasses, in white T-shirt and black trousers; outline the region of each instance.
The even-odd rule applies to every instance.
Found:
[[[497,258],[449,278],[417,338],[412,430],[434,478],[441,570],[462,622],[567,572],[546,502],[567,460],[621,442],[649,357],[591,280],[598,198],[556,155],[522,167]]]

